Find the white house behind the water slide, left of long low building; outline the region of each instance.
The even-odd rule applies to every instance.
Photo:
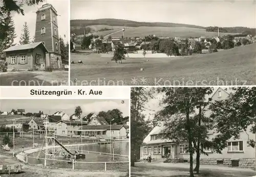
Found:
[[[77,132],[82,125],[87,125],[86,121],[60,120],[56,123],[56,134],[62,136],[78,135]]]

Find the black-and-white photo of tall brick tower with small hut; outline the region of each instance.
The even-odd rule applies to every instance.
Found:
[[[0,86],[69,85],[69,0],[0,7]]]

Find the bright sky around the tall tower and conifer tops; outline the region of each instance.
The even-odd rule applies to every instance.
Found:
[[[36,23],[36,8],[41,7],[44,4],[51,4],[55,10],[57,11],[58,15],[58,30],[59,36],[63,38],[64,41],[68,41],[68,27],[69,27],[69,3],[68,0],[48,0],[44,3],[40,3],[35,6],[23,6],[22,9],[25,12],[25,15],[17,14],[16,12],[12,13],[14,23],[15,23],[15,32],[17,37],[14,40],[14,43],[19,42],[20,35],[22,34],[22,29],[25,21],[28,23],[30,37],[33,39],[35,36],[35,23]],[[64,38],[66,35],[66,39]]]

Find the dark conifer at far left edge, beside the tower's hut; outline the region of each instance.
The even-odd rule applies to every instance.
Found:
[[[3,50],[13,46],[14,39],[16,38],[15,26],[11,13],[7,12],[3,16],[1,16],[0,21],[0,55],[5,55]]]

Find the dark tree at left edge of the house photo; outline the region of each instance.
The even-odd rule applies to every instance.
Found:
[[[135,166],[136,157],[140,154],[143,139],[151,131],[149,123],[144,121],[142,113],[150,94],[144,87],[131,88],[131,166]]]

